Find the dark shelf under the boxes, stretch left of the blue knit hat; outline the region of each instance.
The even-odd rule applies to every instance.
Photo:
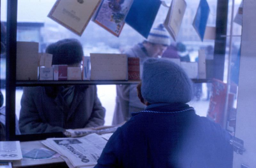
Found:
[[[16,86],[47,86],[47,85],[119,85],[138,84],[140,81],[16,81]]]

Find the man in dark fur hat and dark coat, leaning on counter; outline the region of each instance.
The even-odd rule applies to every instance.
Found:
[[[80,42],[64,39],[49,45],[52,64],[80,67],[84,55]],[[105,108],[95,85],[26,87],[21,98],[20,132],[63,132],[65,129],[104,124]]]

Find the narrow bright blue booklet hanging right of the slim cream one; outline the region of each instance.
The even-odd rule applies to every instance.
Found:
[[[199,6],[196,11],[196,16],[194,18],[193,26],[202,41],[204,39],[204,32],[205,32],[209,13],[210,13],[210,8],[207,1],[200,0]]]

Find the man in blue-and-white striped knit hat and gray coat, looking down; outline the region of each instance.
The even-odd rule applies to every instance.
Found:
[[[124,53],[128,57],[140,58],[140,76],[142,65],[148,58],[158,58],[162,56],[167,46],[171,44],[169,33],[165,30],[163,24],[153,28],[148,39],[144,40]],[[131,112],[138,112],[145,108],[137,96],[137,85],[116,85],[116,106],[113,117],[113,125],[128,121]]]

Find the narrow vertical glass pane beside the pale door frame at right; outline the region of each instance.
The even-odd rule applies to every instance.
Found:
[[[229,1],[228,10],[228,33],[225,55],[224,81],[227,83],[227,106],[225,113],[227,114],[226,129],[232,134],[235,132],[236,123],[236,103],[240,64],[240,46],[242,33],[242,15],[239,14],[239,7],[242,7],[241,0],[234,3],[232,18],[232,1]]]

